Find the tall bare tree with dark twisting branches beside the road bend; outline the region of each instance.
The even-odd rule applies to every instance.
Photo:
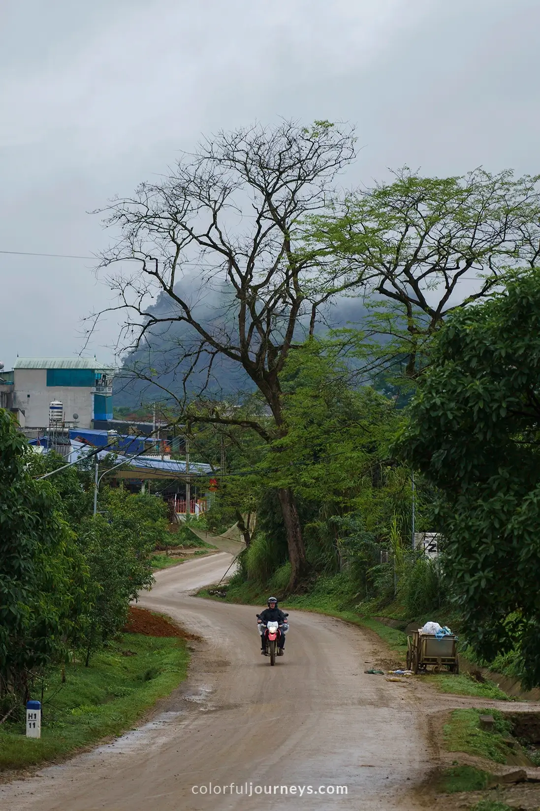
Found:
[[[152,332],[179,324],[169,368],[185,393],[195,371],[204,370],[204,390],[216,359],[226,358],[242,367],[272,415],[190,414],[187,398],[178,397],[183,418],[238,424],[267,442],[284,435],[280,375],[289,350],[313,335],[320,308],[353,283],[343,268],[335,272],[332,257],[305,250],[300,224],[328,204],[333,179],[353,157],[353,132],[329,122],[220,132],[161,182],[142,183],[105,209],[106,224],[120,232],[101,267],[123,263],[109,277],[119,296],[110,309],[126,311],[122,346],[144,347]],[[126,272],[128,260],[135,272]],[[306,551],[293,492],[282,488],[279,499],[294,590],[307,572]]]

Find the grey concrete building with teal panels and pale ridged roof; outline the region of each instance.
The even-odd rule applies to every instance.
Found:
[[[49,427],[52,401],[62,403],[65,427],[92,428],[113,418],[113,371],[96,358],[17,358],[2,377],[13,375],[6,388],[13,392],[11,410],[24,415],[25,431]]]

